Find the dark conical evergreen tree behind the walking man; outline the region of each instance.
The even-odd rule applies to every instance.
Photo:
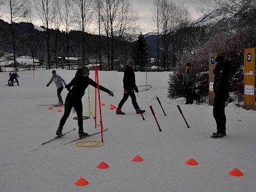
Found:
[[[134,70],[145,70],[148,60],[148,44],[140,33],[133,47]]]

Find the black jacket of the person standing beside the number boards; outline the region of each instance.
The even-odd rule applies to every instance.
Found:
[[[230,61],[218,63],[214,68],[214,84],[213,91],[215,93],[214,100],[226,101],[229,96],[228,77],[230,72]]]

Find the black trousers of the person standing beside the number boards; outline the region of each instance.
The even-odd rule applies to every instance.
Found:
[[[217,124],[217,132],[226,132],[225,101],[214,99],[213,116]]]

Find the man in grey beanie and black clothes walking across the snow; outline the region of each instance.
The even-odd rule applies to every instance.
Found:
[[[144,113],[145,112],[145,110],[141,110],[139,108],[138,103],[136,102],[135,93],[133,92],[133,90],[136,93],[139,92],[138,88],[136,86],[136,82],[135,82],[135,74],[134,74],[134,70],[133,70],[133,65],[134,65],[134,61],[132,59],[128,59],[127,60],[127,65],[125,66],[124,79],[123,79],[124,97],[122,98],[122,100],[118,104],[118,108],[116,109],[116,114],[117,115],[125,115],[125,113],[123,113],[121,111],[121,108],[122,108],[122,106],[124,105],[125,101],[128,99],[129,96],[132,99],[132,106],[134,107],[136,113],[139,114],[139,113]]]

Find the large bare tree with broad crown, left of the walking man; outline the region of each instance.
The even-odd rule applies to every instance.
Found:
[[[128,0],[100,1],[102,27],[108,38],[108,65],[114,70],[114,52],[116,45],[125,33],[129,33],[137,25],[137,13],[132,10]]]

